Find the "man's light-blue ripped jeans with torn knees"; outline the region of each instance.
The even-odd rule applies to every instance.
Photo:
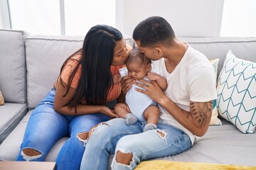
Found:
[[[144,124],[126,125],[123,118],[101,123],[86,144],[81,170],[107,169],[108,157],[115,154],[112,169],[134,169],[146,159],[179,154],[191,148],[190,137],[174,126],[158,123],[157,130],[143,131]],[[117,163],[116,153],[131,153],[129,165]]]

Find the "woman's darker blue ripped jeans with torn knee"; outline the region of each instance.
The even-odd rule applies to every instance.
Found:
[[[80,169],[82,154],[85,151],[85,140],[78,137],[81,132],[109,118],[102,113],[68,116],[54,111],[55,89],[52,89],[35,108],[28,120],[26,132],[21,144],[17,161],[44,161],[55,142],[61,137],[69,137],[58,153],[57,169]],[[35,149],[41,155],[28,157],[22,150]]]

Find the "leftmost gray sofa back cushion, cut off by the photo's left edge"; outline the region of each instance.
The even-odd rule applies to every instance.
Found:
[[[0,30],[0,90],[6,102],[26,103],[27,35],[20,30]]]

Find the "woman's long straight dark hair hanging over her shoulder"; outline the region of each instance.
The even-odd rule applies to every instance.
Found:
[[[85,35],[82,50],[78,50],[68,57],[60,69],[61,73],[68,60],[73,60],[70,58],[82,52],[82,60],[78,61],[79,64],[68,80],[68,89],[65,95],[68,94],[70,84],[81,65],[82,72],[75,96],[67,106],[77,106],[83,100],[88,105],[100,106],[107,103],[107,94],[114,84],[110,70],[114,56],[114,46],[121,39],[122,33],[111,26],[97,25],[90,28],[87,35]]]

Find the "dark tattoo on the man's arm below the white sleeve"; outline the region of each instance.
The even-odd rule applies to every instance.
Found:
[[[209,113],[212,111],[212,108],[213,108],[212,101],[191,102],[191,116],[197,120],[198,124],[201,127],[203,127],[206,125],[208,121],[210,121]]]

